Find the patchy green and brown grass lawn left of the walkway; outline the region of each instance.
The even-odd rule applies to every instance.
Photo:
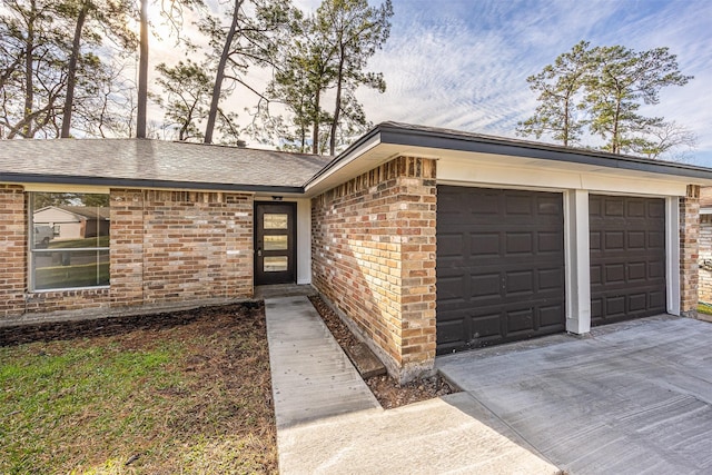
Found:
[[[277,472],[261,307],[52,331],[0,334],[1,474]]]

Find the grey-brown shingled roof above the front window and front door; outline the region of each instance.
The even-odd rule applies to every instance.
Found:
[[[2,140],[0,181],[300,192],[330,159],[149,139]]]

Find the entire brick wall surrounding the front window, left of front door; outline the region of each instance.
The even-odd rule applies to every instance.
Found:
[[[0,186],[0,317],[52,319],[253,296],[253,196],[112,189],[110,287],[27,291],[27,198]],[[87,314],[88,315],[88,314]],[[2,321],[0,321],[0,325]]]

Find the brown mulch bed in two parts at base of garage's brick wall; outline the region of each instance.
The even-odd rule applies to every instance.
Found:
[[[309,297],[309,299],[342,348],[354,346],[358,343],[358,339],[352,334],[346,324],[342,321],[320,297],[313,296]],[[404,385],[398,384],[398,382],[390,376],[374,376],[365,379],[365,382],[384,409],[392,409],[419,400],[456,393],[439,375],[417,379]]]

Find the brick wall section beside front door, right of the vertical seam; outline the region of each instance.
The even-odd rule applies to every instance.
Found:
[[[253,198],[144,192],[144,303],[253,294]]]

